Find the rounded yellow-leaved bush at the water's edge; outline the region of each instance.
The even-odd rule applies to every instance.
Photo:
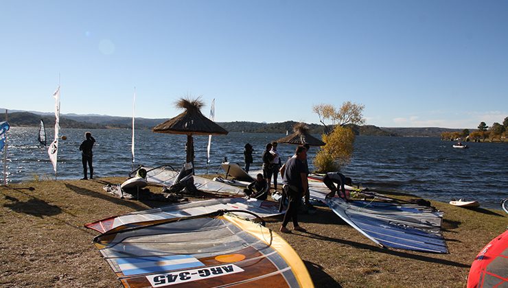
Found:
[[[340,171],[347,165],[353,154],[355,135],[350,128],[336,126],[328,135],[323,134],[325,146],[321,147],[314,158],[314,167],[318,173]]]

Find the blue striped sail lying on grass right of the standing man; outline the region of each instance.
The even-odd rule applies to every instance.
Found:
[[[312,182],[310,197],[324,201],[338,217],[381,247],[448,253],[441,234],[443,213],[428,206],[325,198],[323,182]]]

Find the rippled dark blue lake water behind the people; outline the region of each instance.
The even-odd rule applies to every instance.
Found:
[[[61,130],[58,150],[58,179],[82,178],[81,154],[84,140],[80,129]],[[91,130],[94,174],[127,176],[131,169],[130,130]],[[48,131],[52,139],[53,131]],[[211,162],[206,165],[207,136],[194,136],[196,173],[217,173],[220,163],[228,160],[243,166],[243,147],[253,145],[251,170],[261,168],[261,154],[268,141],[285,134],[231,132],[213,136]],[[172,165],[179,169],[185,161],[186,136],[157,134],[138,130],[135,143],[135,166]],[[50,142],[50,141],[49,141]],[[364,187],[413,193],[429,200],[448,202],[465,197],[481,202],[485,208],[500,209],[500,200],[508,197],[508,145],[505,143],[467,143],[470,149],[454,149],[452,142],[425,137],[357,136],[351,163],[343,173]],[[318,148],[311,147],[309,157]],[[295,145],[279,145],[284,158],[291,156]],[[40,147],[36,128],[11,128],[8,132],[8,182],[54,179],[47,147]],[[312,161],[310,161],[311,163]],[[3,168],[3,153],[0,157]],[[311,165],[312,169],[312,165]],[[0,170],[1,171],[1,170]]]

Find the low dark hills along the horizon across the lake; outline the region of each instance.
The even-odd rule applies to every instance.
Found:
[[[3,109],[0,109],[0,112]],[[31,126],[37,127],[39,120],[43,119],[47,127],[55,124],[53,113],[47,112],[14,112],[19,110],[10,110],[9,123],[12,126]],[[136,129],[152,129],[155,125],[168,119],[146,119],[136,118]],[[258,123],[247,121],[218,122],[222,128],[230,132],[253,132],[253,133],[292,133],[292,128],[297,122],[285,121],[279,123]],[[83,129],[106,129],[106,128],[126,128],[132,125],[130,117],[116,117],[108,115],[60,115],[60,127],[62,128],[83,128]],[[323,125],[310,123],[307,124],[311,134],[323,133]],[[366,136],[426,136],[439,137],[441,132],[461,131],[462,129],[450,128],[386,128],[374,125],[349,125],[356,135]],[[474,129],[470,129],[474,130]]]

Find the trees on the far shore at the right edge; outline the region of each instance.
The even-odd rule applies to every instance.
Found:
[[[481,122],[478,125],[478,130],[470,132],[469,129],[455,132],[442,132],[441,140],[444,141],[474,141],[480,142],[489,139],[489,141],[504,142],[508,130],[508,117],[505,117],[503,124],[494,122],[490,127],[485,122]]]

